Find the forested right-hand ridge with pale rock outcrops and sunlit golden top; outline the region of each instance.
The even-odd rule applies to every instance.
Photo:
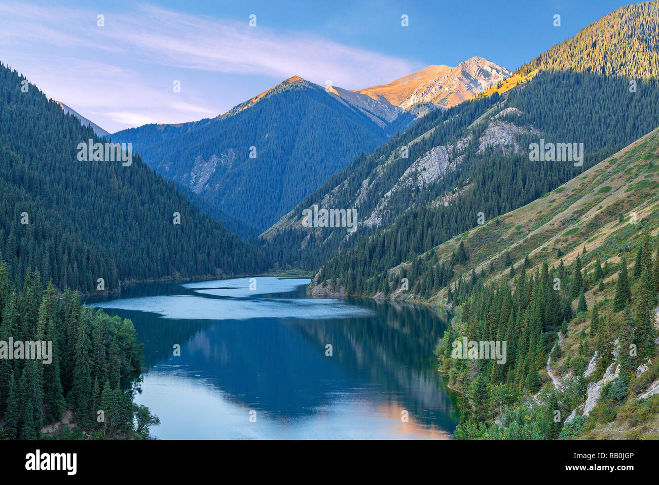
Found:
[[[317,294],[387,294],[389,269],[473,228],[480,214],[490,220],[529,203],[659,125],[659,86],[643,77],[655,72],[646,46],[658,28],[656,2],[624,7],[524,67],[532,79],[519,71],[526,82],[502,95],[495,90],[426,115],[328,179],[266,232],[280,248],[273,256],[281,267],[322,265]],[[648,38],[625,43],[627,32]],[[591,36],[597,42],[584,41]],[[625,77],[606,69],[619,57],[627,59]],[[563,59],[561,69],[548,59]],[[532,162],[529,146],[540,139],[583,143],[583,158]],[[301,227],[302,210],[314,203],[357,209],[357,232]],[[324,263],[328,253],[333,257]],[[439,278],[428,292],[443,285]]]

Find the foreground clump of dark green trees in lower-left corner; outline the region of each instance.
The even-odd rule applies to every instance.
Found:
[[[127,382],[142,366],[132,323],[81,306],[68,288],[60,300],[39,271],[20,284],[0,263],[0,341],[0,437],[144,438],[158,422]],[[37,341],[51,345],[42,358],[28,353]]]

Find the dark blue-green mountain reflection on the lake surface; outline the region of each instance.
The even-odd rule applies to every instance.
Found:
[[[163,289],[159,294],[190,294],[181,286],[161,286],[159,291]],[[147,294],[154,292],[126,296]],[[290,299],[295,293],[281,296]],[[444,333],[445,315],[407,304],[345,303],[370,309],[375,316],[212,321],[105,311],[132,319],[154,372],[171,372],[176,366],[177,372],[199,375],[243,406],[282,418],[310,416],[350,394],[380,402],[383,412],[406,409],[423,426],[452,431],[457,411],[432,354]],[[181,344],[180,357],[172,356],[174,344]],[[331,357],[325,355],[326,344],[332,345]]]

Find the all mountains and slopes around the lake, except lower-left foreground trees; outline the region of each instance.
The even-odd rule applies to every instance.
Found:
[[[0,65],[0,280],[28,283],[36,323],[49,281],[54,300],[310,274],[314,296],[452,312],[436,354],[456,437],[656,437],[657,32],[654,1],[515,73],[473,57],[361,90],[293,76],[212,119],[109,135],[129,166],[82,160],[107,133]],[[356,224],[310,224],[320,211]],[[509,358],[455,359],[463,338]]]

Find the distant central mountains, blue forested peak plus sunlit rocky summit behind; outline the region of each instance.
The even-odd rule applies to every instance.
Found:
[[[145,125],[112,138],[132,143],[165,178],[262,232],[393,130],[509,75],[473,57],[457,67],[430,66],[359,91],[293,76],[216,118]]]

